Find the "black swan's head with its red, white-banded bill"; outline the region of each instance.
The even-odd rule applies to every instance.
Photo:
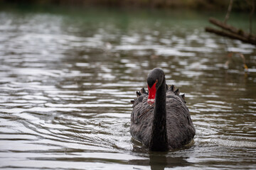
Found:
[[[164,71],[161,69],[153,69],[147,78],[147,84],[149,89],[149,97],[147,102],[149,105],[154,104],[156,98],[156,91],[161,86],[164,80]]]

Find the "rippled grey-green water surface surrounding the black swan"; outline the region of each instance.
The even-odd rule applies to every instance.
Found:
[[[205,33],[208,16],[1,9],[1,169],[256,169],[256,49]],[[225,66],[227,50],[247,72],[238,55]],[[154,67],[186,94],[196,127],[168,153],[129,134],[129,101]]]

